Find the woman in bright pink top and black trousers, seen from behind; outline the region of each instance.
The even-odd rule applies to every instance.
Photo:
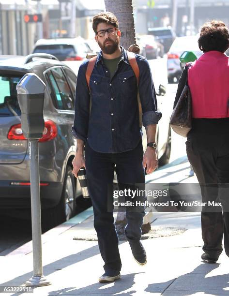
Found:
[[[221,21],[204,24],[198,45],[204,54],[189,68],[185,66],[174,107],[188,71],[193,119],[186,152],[200,183],[202,202],[206,203],[201,212],[204,241],[201,258],[215,263],[223,250],[223,236],[229,256],[229,187],[224,194],[220,193],[223,189],[220,183],[229,183],[229,58],[224,54],[229,48],[228,28]],[[218,201],[222,207],[213,206]]]

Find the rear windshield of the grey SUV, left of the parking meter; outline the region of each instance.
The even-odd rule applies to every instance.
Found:
[[[16,85],[21,77],[0,76],[0,117],[20,116]]]

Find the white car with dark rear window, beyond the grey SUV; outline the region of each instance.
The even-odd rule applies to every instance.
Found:
[[[39,39],[32,53],[47,53],[59,60],[83,60],[92,49],[85,39],[76,38],[51,38]]]

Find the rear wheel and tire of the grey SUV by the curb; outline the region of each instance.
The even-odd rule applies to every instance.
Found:
[[[42,211],[42,231],[55,227],[74,216],[76,212],[76,181],[72,167],[67,165],[61,200],[56,207]]]

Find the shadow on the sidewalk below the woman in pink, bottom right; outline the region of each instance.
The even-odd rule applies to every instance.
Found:
[[[210,292],[211,295],[215,296],[228,296],[229,291],[225,291],[223,289],[229,287],[229,274],[206,277],[208,273],[218,266],[218,263],[201,264],[197,266],[192,272],[186,273],[176,279],[150,284],[145,289],[145,291],[152,293],[153,291],[158,290],[158,287],[165,286],[166,284],[167,288],[162,292],[161,295],[188,296],[195,293],[208,294]]]

